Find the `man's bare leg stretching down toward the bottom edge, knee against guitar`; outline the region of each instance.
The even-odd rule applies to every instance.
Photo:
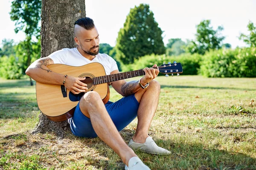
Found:
[[[93,91],[85,93],[80,101],[79,107],[81,112],[90,118],[93,129],[99,138],[108,144],[108,146],[111,147],[128,166],[129,159],[137,155],[130,147],[128,147],[119,134],[113,121],[108,115],[99,94]]]

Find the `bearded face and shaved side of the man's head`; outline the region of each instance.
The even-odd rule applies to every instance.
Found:
[[[78,48],[89,55],[97,55],[99,53],[99,33],[96,27],[86,30],[81,26],[76,26],[75,41]]]

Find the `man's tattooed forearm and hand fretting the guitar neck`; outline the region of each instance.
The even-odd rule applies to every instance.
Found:
[[[157,64],[154,64],[153,67],[155,66],[157,66]],[[143,76],[143,78],[139,80],[143,86],[145,86],[148,82],[156,78],[159,73],[158,69],[147,68],[147,67],[143,69],[143,71],[145,72],[145,75]],[[116,74],[116,73],[119,73],[119,71],[115,70],[111,72],[111,74]],[[116,90],[116,92],[118,92],[122,96],[127,96],[141,89],[139,81],[126,82],[125,80],[119,80],[119,81],[114,81],[112,83],[112,86]]]

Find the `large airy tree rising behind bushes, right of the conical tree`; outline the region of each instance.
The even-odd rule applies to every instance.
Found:
[[[187,50],[191,53],[204,55],[209,49],[221,49],[221,43],[225,39],[220,35],[223,27],[218,26],[216,30],[210,26],[210,20],[203,20],[197,27],[195,40],[191,40],[187,46]]]

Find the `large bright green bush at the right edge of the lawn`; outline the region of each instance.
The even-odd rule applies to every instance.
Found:
[[[256,77],[256,49],[220,49],[208,52],[200,63],[207,77]]]

